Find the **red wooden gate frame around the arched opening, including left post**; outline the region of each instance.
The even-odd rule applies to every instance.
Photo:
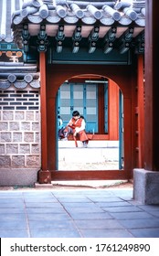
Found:
[[[47,64],[40,53],[41,71],[41,148],[42,167],[39,183],[51,180],[129,179],[135,161],[135,93],[136,74],[130,66]],[[124,112],[124,170],[58,171],[58,142],[56,134],[56,96],[58,87],[70,78],[83,74],[97,74],[115,81],[123,94]]]

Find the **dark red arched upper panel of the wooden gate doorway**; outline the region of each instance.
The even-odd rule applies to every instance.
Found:
[[[121,89],[123,95],[129,98],[131,93],[131,66],[105,66],[105,65],[49,65],[48,73],[54,73],[49,83],[57,89],[66,80],[95,79],[113,80]],[[48,78],[49,79],[49,78]],[[129,86],[128,86],[129,85]],[[56,96],[56,95],[55,95]]]

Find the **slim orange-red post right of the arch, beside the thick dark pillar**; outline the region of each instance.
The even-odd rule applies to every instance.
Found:
[[[143,168],[144,151],[144,88],[143,88],[143,55],[138,57],[138,147],[139,168]]]

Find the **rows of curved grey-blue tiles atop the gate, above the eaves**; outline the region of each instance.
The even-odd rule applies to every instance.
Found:
[[[110,26],[115,22],[119,25],[144,26],[145,1],[79,1],[79,0],[31,0],[25,1],[22,8],[13,16],[13,25],[27,20],[39,24],[44,20],[50,24],[64,21],[76,24],[81,21],[90,25],[97,21],[101,25]]]

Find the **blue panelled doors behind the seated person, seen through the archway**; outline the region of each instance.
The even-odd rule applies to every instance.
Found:
[[[73,111],[86,119],[87,133],[98,133],[98,86],[89,83],[63,83],[58,89],[58,114],[69,123]]]

